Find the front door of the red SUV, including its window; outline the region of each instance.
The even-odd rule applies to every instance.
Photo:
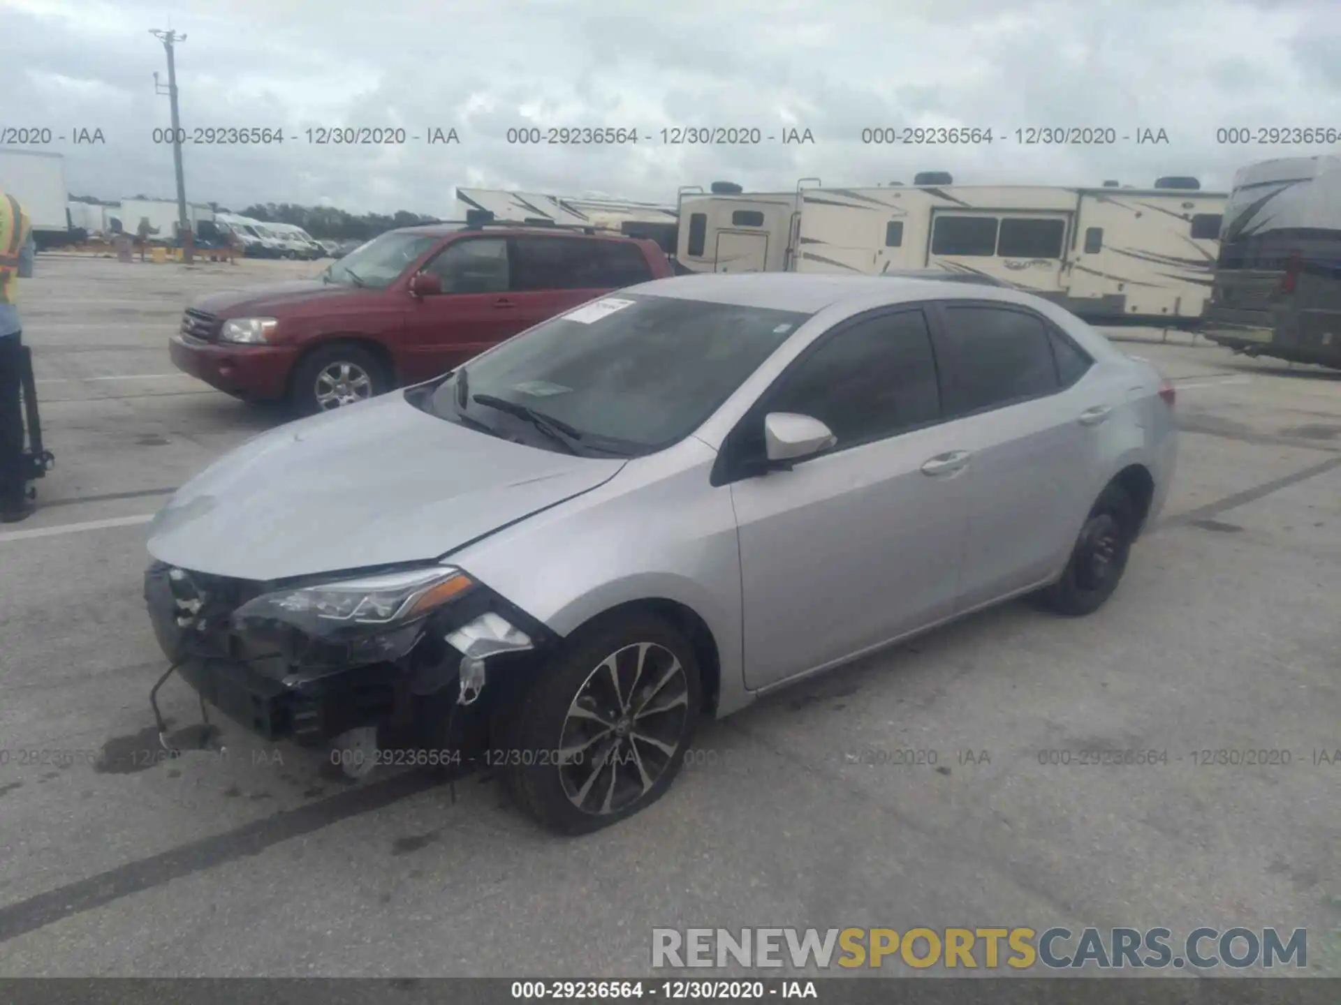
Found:
[[[445,373],[528,327],[507,304],[506,239],[459,237],[420,271],[437,276],[443,292],[406,293],[401,355],[406,383]]]

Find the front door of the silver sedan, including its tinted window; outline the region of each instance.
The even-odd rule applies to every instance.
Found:
[[[818,418],[838,442],[791,470],[731,484],[751,689],[948,616],[967,520],[966,469],[939,425],[920,308],[862,315],[821,336],[728,437],[728,460],[762,453],[763,415],[774,411]]]

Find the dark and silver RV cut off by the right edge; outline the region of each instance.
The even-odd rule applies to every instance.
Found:
[[[1290,157],[1234,177],[1207,338],[1341,370],[1341,157]]]

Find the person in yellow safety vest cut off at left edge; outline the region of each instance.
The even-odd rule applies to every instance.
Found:
[[[32,225],[19,200],[0,190],[0,521],[32,515],[23,466],[23,330],[19,324],[19,277],[32,275],[36,247]]]

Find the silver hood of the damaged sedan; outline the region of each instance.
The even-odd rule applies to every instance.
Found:
[[[261,582],[436,559],[594,489],[624,464],[476,433],[393,393],[225,454],[154,516],[149,552]]]

